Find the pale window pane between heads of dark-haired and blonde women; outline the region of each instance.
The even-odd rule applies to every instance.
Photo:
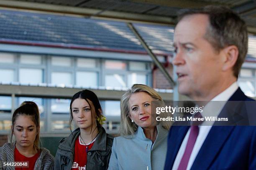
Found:
[[[104,114],[106,116],[120,116],[120,101],[105,101]]]

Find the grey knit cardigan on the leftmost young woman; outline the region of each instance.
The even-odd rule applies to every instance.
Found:
[[[15,167],[5,166],[4,162],[14,162],[14,148],[10,143],[5,143],[0,147],[0,169],[1,170],[15,170]],[[40,148],[40,155],[36,160],[34,170],[53,170],[54,157],[50,154],[49,150]]]

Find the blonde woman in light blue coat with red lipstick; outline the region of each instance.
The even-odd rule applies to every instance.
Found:
[[[108,170],[162,170],[170,124],[155,121],[152,101],[164,103],[151,87],[135,84],[121,98],[121,127]]]

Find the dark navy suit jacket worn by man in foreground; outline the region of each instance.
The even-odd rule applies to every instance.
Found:
[[[229,101],[253,100],[246,97],[238,88]],[[243,117],[256,115],[256,110],[251,105],[248,107],[246,102],[239,108],[238,106],[234,106],[234,108],[243,113]],[[222,112],[220,115],[223,114]],[[250,120],[250,118],[248,119]],[[253,125],[255,125],[255,121],[253,120]],[[230,126],[212,126],[191,170],[256,170],[256,126],[239,126],[239,122],[237,125],[236,122],[238,121],[233,122],[234,124]],[[172,126],[170,129],[164,170],[172,169],[188,130],[189,126]]]

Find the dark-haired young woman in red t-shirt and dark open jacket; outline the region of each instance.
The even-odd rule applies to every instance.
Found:
[[[70,103],[71,123],[77,125],[60,141],[54,170],[107,170],[113,137],[102,128],[105,117],[98,97],[90,90],[77,92]]]

